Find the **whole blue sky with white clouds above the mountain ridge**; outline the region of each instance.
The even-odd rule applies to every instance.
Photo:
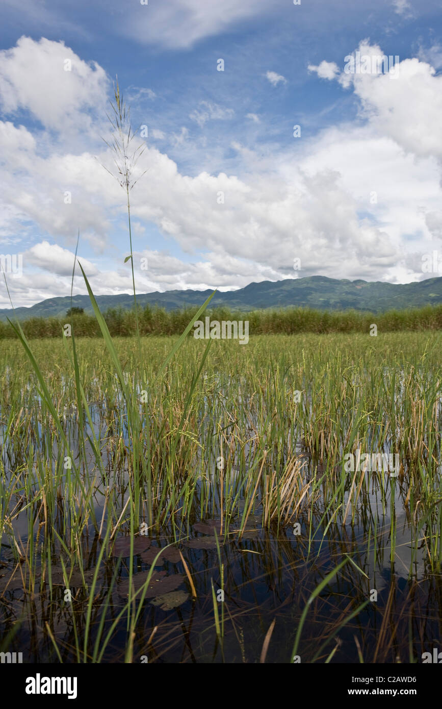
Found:
[[[94,294],[132,291],[117,76],[138,293],[442,275],[439,0],[1,0],[0,26],[14,307],[70,294],[78,235]]]

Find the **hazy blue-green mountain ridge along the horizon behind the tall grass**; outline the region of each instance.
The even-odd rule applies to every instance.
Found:
[[[201,305],[212,293],[207,291],[166,291],[137,295],[140,306],[159,306],[166,311]],[[101,311],[108,308],[130,309],[133,295],[96,296]],[[74,296],[74,306],[92,313],[89,296]],[[429,278],[418,283],[391,284],[382,281],[348,281],[346,279],[309,276],[283,281],[250,283],[237,291],[215,294],[210,306],[228,306],[242,311],[261,308],[309,307],[319,310],[370,311],[382,313],[387,310],[414,308],[442,303],[442,277]],[[71,306],[70,296],[49,298],[30,308],[16,308],[16,316],[26,318],[64,316]],[[11,318],[11,308],[0,309],[0,320]]]

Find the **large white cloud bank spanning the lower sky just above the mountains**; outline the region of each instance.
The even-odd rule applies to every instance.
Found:
[[[368,41],[359,50],[382,54]],[[428,250],[441,235],[441,78],[418,59],[400,62],[397,79],[342,72],[335,79],[343,87],[343,77],[349,77],[346,89],[360,105],[356,121],[284,150],[261,144],[255,151],[234,141],[241,175],[183,174],[168,155],[146,146],[137,169],[147,173],[131,193],[134,234],[146,243],[146,250],[137,253],[149,257],[148,271],[137,269],[139,292],[232,289],[318,273],[392,281],[423,276],[413,253]],[[75,95],[75,84],[72,91]],[[82,110],[87,114],[90,108],[86,104]],[[217,115],[216,104],[198,110],[209,114],[207,120]],[[11,284],[14,304],[69,292],[73,253],[62,243],[72,247],[77,228],[81,243],[89,242],[97,252],[106,249],[106,269],[98,271],[92,261],[81,259],[94,292],[130,292],[129,264],[121,265],[126,245],[113,245],[118,266],[109,256],[109,233],[125,218],[120,186],[100,164],[111,155],[100,147],[95,160],[69,142],[64,149],[56,140],[51,143],[50,135],[40,155],[34,133],[12,120],[0,122],[0,199],[5,203],[0,238],[7,243],[14,226],[28,239],[30,225],[39,234],[38,243],[26,245],[29,268],[25,262],[23,279]],[[183,126],[172,139],[183,145],[188,129]],[[146,225],[149,230],[154,225],[191,262],[149,250]],[[293,270],[296,257],[300,272]],[[81,279],[74,288],[84,292]]]

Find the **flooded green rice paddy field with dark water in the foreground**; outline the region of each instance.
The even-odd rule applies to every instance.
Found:
[[[1,652],[396,664],[440,645],[441,332],[100,326],[0,342]],[[395,473],[348,469],[373,453]]]

